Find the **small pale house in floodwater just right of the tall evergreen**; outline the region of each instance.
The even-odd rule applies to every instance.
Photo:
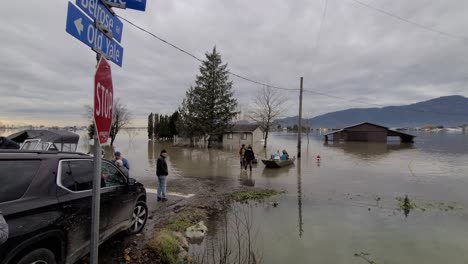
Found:
[[[261,142],[263,130],[257,124],[235,124],[223,134],[223,145],[253,145]]]

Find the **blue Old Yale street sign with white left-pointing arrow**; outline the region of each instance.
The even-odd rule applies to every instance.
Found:
[[[68,2],[66,31],[79,41],[102,53],[108,60],[122,67],[123,48],[99,31],[91,19]]]

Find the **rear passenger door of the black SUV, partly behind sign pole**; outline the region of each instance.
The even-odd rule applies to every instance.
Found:
[[[68,255],[74,259],[89,251],[91,238],[93,161],[89,159],[61,160],[59,163],[57,198],[62,207],[63,229],[67,232]],[[105,201],[101,201],[100,240],[106,237],[108,213]]]

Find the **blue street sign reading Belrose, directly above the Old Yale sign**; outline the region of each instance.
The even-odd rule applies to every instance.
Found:
[[[100,21],[112,32],[112,37],[122,41],[123,23],[104,6],[100,0],[76,0],[76,5],[92,19]]]

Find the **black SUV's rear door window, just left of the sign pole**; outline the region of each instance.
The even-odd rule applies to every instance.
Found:
[[[93,162],[91,160],[62,161],[60,181],[63,187],[79,192],[93,189]]]

